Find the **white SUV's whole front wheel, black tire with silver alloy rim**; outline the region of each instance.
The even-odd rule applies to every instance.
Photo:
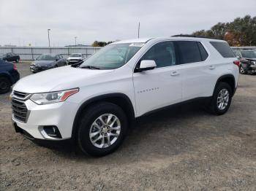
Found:
[[[103,122],[108,122],[107,117],[110,116],[108,114],[113,115],[108,124],[114,123],[112,128],[115,130],[108,130],[107,128],[110,127],[106,127],[99,120],[102,117]],[[114,119],[116,119],[115,122],[113,122]],[[111,120],[113,121],[111,122]],[[83,153],[94,157],[108,155],[114,152],[121,145],[122,141],[124,141],[127,135],[127,128],[127,116],[119,106],[108,102],[97,103],[81,114],[77,134],[78,146]],[[105,130],[108,130],[108,132]],[[97,135],[92,136],[93,133]],[[107,134],[113,134],[115,136],[109,136],[110,141],[108,142]],[[95,141],[97,139],[98,141]],[[102,144],[102,140],[104,144]],[[95,142],[93,143],[93,141]]]

